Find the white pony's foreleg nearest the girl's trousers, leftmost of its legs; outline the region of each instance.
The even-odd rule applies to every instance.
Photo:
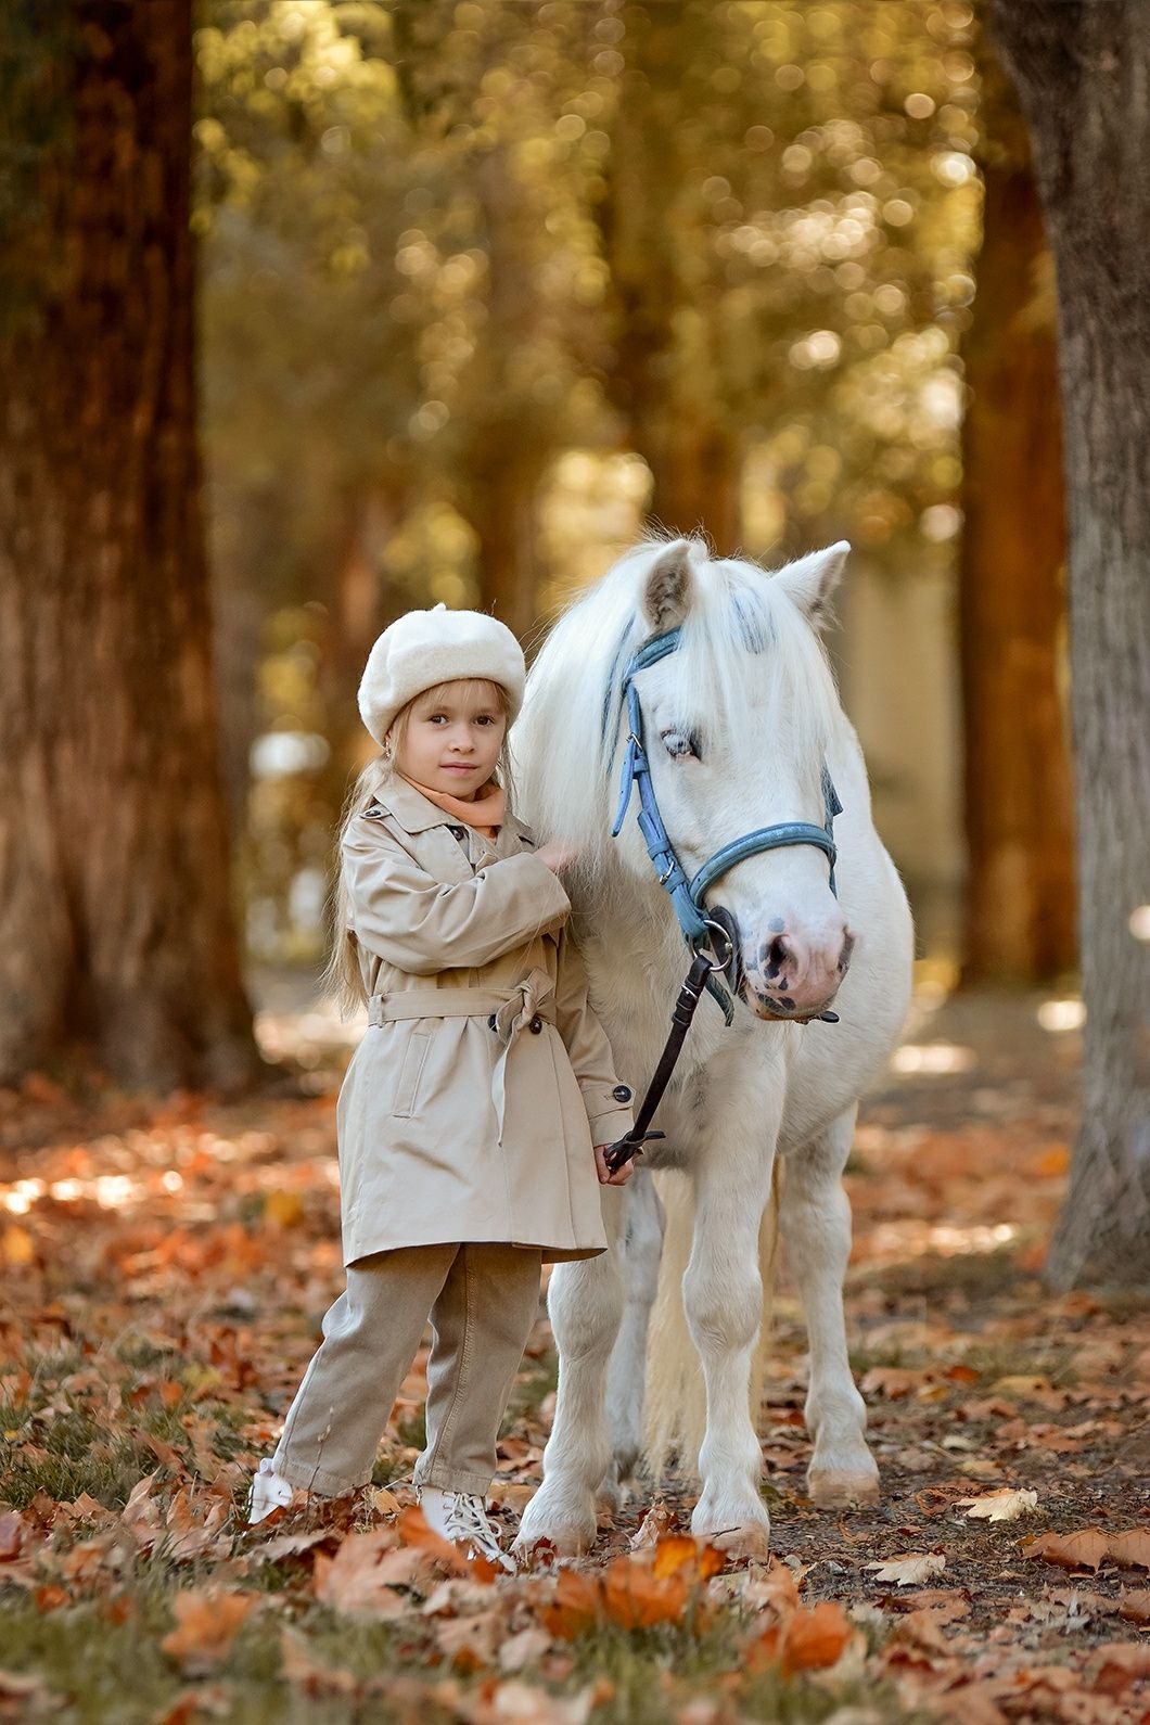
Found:
[[[543,1484],[522,1513],[519,1552],[548,1539],[560,1556],[578,1556],[595,1542],[595,1490],[610,1463],[607,1361],[622,1318],[617,1245],[622,1189],[605,1189],[602,1197],[609,1249],[598,1258],[557,1264],[547,1290],[559,1390],[543,1451]]]

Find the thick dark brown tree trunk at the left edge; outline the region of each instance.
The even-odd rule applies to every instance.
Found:
[[[191,0],[9,7],[0,1080],[259,1070],[195,436]],[[19,814],[16,812],[19,811]]]

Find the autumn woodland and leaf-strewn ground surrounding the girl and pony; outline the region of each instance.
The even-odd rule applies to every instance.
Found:
[[[1147,160],[1143,0],[0,9],[0,1716],[1145,1718]],[[678,1477],[452,1571],[422,1351],[367,1496],[252,1537],[341,1283],[367,649],[531,650],[648,519],[853,545],[919,926],[847,1173],[883,1501],[805,1496],[783,1280],[769,1566]],[[553,1401],[540,1320],[509,1532]]]

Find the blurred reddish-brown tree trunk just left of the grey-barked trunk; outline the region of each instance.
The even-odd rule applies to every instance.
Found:
[[[1059,699],[1066,511],[1053,290],[1014,93],[983,55],[983,248],[964,343],[960,656],[969,849],[964,982],[1078,961]]]

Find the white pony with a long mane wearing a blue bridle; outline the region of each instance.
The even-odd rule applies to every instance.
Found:
[[[728,1028],[703,995],[655,1116],[666,1140],[648,1145],[626,1189],[603,1189],[610,1251],[553,1271],[559,1396],[521,1549],[550,1539],[564,1554],[584,1551],[597,1496],[614,1496],[643,1451],[643,1358],[664,1233],[647,1170],[672,1170],[660,1175],[662,1192],[690,1226],[676,1299],[681,1289],[705,1390],[693,1532],[748,1556],[767,1546],[750,1390],[776,1152],[786,1161],[779,1226],[810,1337],[809,1490],[821,1504],[878,1494],[847,1361],[850,1209],[841,1171],[859,1094],[903,1023],[912,930],[817,638],[847,552],[840,543],[769,576],[750,562],[712,559],[693,538],[647,542],[559,618],[531,669],[514,735],[521,802],[540,838],[578,850],[564,875],[574,928],[636,1106],[691,957],[633,809],[610,837],[628,738],[621,683],[636,649],[679,630],[676,650],[640,669],[634,688],[650,783],[688,878],[752,830],[822,826],[828,771],[841,812],[838,897],[828,854],[812,842],[750,856],[707,892],[707,904],[736,923],[743,973],[734,1019]],[[831,1000],[838,1023],[809,1021]],[[678,1328],[684,1340],[681,1320]],[[690,1466],[688,1377],[698,1377],[690,1346],[655,1333],[652,1354],[648,1461],[660,1466],[678,1442]]]

